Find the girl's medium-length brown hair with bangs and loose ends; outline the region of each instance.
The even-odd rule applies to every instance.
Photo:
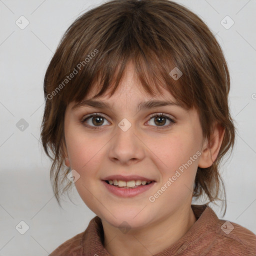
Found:
[[[115,81],[112,95],[129,60],[147,93],[155,95],[163,87],[182,106],[198,110],[208,141],[215,121],[224,127],[218,156],[210,167],[198,167],[193,190],[194,198],[204,194],[209,202],[221,200],[218,166],[233,149],[235,129],[228,109],[229,72],[217,40],[196,14],[173,1],[111,0],[69,26],[45,73],[41,140],[53,160],[50,178],[58,203],[59,189],[71,185],[64,185],[70,168],[63,170],[66,106],[84,99],[95,84],[94,97]],[[183,73],[179,79],[169,74],[174,67]],[[224,202],[226,209],[225,195]]]

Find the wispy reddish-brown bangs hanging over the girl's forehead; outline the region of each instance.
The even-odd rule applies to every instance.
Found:
[[[159,52],[157,56],[145,47],[144,51],[138,48],[130,50],[133,52],[132,56],[125,50],[125,47],[119,47],[106,54],[103,59],[93,59],[93,63],[83,68],[63,93],[65,105],[72,101],[82,101],[91,91],[95,91],[91,98],[106,93],[110,97],[119,87],[125,68],[131,63],[134,67],[133,78],[146,94],[163,96],[166,94],[164,90],[167,90],[182,107],[188,109],[192,106],[192,97],[188,96],[192,91],[187,91],[189,87],[182,85],[181,77],[180,80],[174,80],[169,74],[175,67],[170,58],[164,59],[164,56],[159,56]]]

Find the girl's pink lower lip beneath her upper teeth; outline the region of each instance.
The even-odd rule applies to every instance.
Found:
[[[108,191],[110,191],[111,193],[113,193],[115,195],[122,196],[122,197],[132,197],[132,196],[135,196],[137,194],[140,194],[140,193],[148,190],[150,187],[152,187],[154,185],[154,183],[156,183],[154,181],[154,182],[151,182],[147,185],[140,185],[140,186],[135,187],[135,188],[123,188],[123,187],[110,185],[104,180],[102,180],[102,182],[104,183],[104,185],[108,189]]]

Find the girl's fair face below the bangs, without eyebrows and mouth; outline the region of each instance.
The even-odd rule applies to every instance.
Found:
[[[203,142],[199,117],[194,108],[178,105],[137,109],[149,100],[175,102],[163,92],[153,97],[144,92],[130,64],[118,90],[95,99],[110,108],[72,108],[74,102],[66,108],[66,155],[80,175],[76,189],[85,204],[113,226],[123,221],[131,227],[147,226],[190,206]],[[154,182],[147,189],[140,185],[144,190],[136,195],[117,195],[107,188],[113,185],[103,181],[110,175],[139,175]]]

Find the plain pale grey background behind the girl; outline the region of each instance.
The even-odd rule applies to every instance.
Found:
[[[50,186],[50,161],[39,141],[43,76],[67,27],[100,0],[0,0],[0,255],[48,255],[82,232],[95,215],[75,188],[59,208]],[[256,233],[255,57],[256,0],[178,0],[210,27],[230,70],[231,115],[237,136],[222,166],[227,211],[216,214]],[[23,15],[29,24],[20,29]],[[234,24],[231,25],[228,15]],[[222,24],[221,24],[221,20]],[[22,24],[25,24],[23,19]],[[20,24],[21,25],[21,24]],[[23,118],[28,127],[16,123]],[[195,202],[202,204],[203,201]],[[25,221],[22,235],[15,226]]]

